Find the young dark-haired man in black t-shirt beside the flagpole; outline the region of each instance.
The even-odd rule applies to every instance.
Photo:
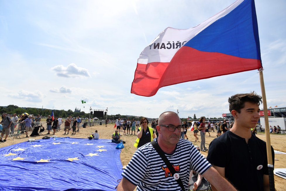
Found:
[[[259,120],[262,98],[252,92],[231,96],[228,102],[234,124],[211,141],[207,160],[237,190],[270,190],[266,143],[250,131]]]

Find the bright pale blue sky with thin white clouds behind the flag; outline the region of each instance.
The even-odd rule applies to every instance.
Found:
[[[228,97],[261,94],[257,70],[163,87],[152,97],[130,88],[140,53],[162,30],[192,28],[233,2],[0,0],[0,105],[221,117]],[[286,107],[286,1],[255,3],[267,105]]]

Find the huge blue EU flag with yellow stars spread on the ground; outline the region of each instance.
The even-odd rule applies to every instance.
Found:
[[[51,138],[0,148],[0,190],[114,190],[120,149],[109,139]]]

